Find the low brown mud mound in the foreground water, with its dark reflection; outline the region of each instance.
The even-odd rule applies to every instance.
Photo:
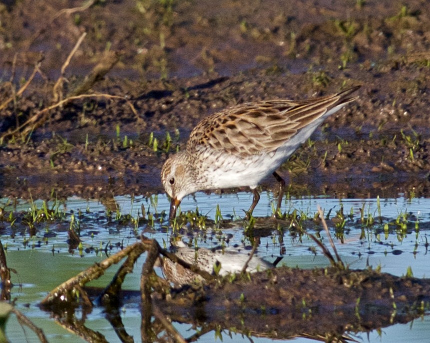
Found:
[[[338,342],[329,337],[370,332],[419,317],[419,304],[428,306],[429,286],[427,280],[371,270],[280,267],[156,299],[163,313],[179,323],[277,340],[303,336]]]

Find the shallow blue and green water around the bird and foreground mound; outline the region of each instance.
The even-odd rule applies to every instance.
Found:
[[[110,253],[117,252],[120,248],[115,244],[129,245],[138,240],[142,230],[149,238],[157,239],[160,244],[168,242],[171,232],[165,229],[165,222],[160,224],[155,222],[153,228],[147,225],[140,225],[135,230],[132,225],[118,225],[115,220],[109,222],[106,219],[107,208],[118,208],[118,214],[122,216],[130,214],[132,217],[138,216],[143,204],[146,211],[151,213],[168,212],[169,202],[164,195],[153,196],[150,199],[142,197],[121,196],[115,197],[115,201],[100,203],[95,200],[83,200],[70,198],[67,202],[60,205],[64,212],[65,219],[63,224],[41,224],[38,227],[36,237],[30,238],[27,245],[23,244],[24,238],[28,239],[25,232],[16,233],[14,239],[10,237],[8,223],[1,231],[1,241],[7,248],[7,263],[10,268],[17,271],[17,276],[12,277],[15,286],[12,289],[12,299],[17,298],[17,307],[35,324],[41,327],[48,337],[49,342],[79,342],[80,339],[68,333],[55,321],[48,313],[37,307],[47,292],[56,287],[61,282],[76,275],[94,262],[100,262],[106,257],[102,249],[108,242],[112,244]],[[252,201],[250,193],[240,192],[237,194],[207,195],[197,193],[195,197],[189,196],[181,204],[182,211],[195,210],[198,206],[199,212],[207,214],[214,219],[216,206],[219,204],[224,219],[229,217],[236,218],[243,216],[243,208],[248,208]],[[261,200],[255,209],[256,217],[266,217],[272,214],[271,203],[274,201],[271,193],[262,193]],[[2,201],[3,203],[6,200]],[[35,205],[40,207],[41,201],[36,201]],[[52,204],[49,204],[52,206]],[[425,278],[430,275],[430,257],[428,256],[427,240],[429,239],[430,228],[430,199],[414,198],[406,199],[402,194],[395,199],[381,199],[381,215],[383,224],[364,227],[360,223],[360,209],[364,208],[366,216],[371,214],[374,218],[379,217],[377,199],[333,199],[328,197],[309,197],[300,199],[285,200],[283,210],[292,212],[294,209],[302,211],[308,217],[313,217],[317,212],[317,206],[321,206],[327,214],[332,209],[330,218],[336,215],[341,206],[344,208],[345,215],[353,213],[353,220],[347,221],[344,228],[343,242],[335,239],[339,254],[344,262],[351,268],[360,269],[370,265],[374,268],[381,266],[383,272],[397,276],[405,275],[408,267],[412,268],[415,277]],[[363,207],[364,205],[364,207]],[[16,211],[26,210],[30,205],[20,203],[16,206]],[[10,210],[11,205],[6,206],[5,210]],[[82,211],[82,218],[78,219],[78,211]],[[67,230],[71,213],[74,213],[76,220],[79,221],[83,248],[81,256],[77,250],[68,251]],[[113,217],[115,211],[112,210]],[[399,232],[395,227],[395,220],[407,214],[407,229]],[[330,222],[330,221],[329,221]],[[418,224],[416,224],[418,222]],[[236,226],[232,228],[207,227],[203,235],[197,230],[185,230],[183,238],[185,240],[196,239],[201,247],[213,247],[226,237],[229,238],[228,245],[237,246],[238,249],[250,249],[251,244],[244,238],[241,221],[236,221]],[[390,231],[385,233],[384,224],[389,223]],[[306,223],[305,223],[306,224]],[[418,225],[418,231],[416,231]],[[332,228],[333,225],[329,226]],[[309,231],[321,230],[321,227],[309,227]],[[332,230],[333,231],[333,230]],[[321,232],[323,237],[324,233]],[[301,239],[293,237],[286,230],[283,234],[283,243],[279,243],[279,232],[270,231],[267,237],[261,238],[261,246],[258,255],[273,261],[280,252],[283,252],[281,264],[291,267],[314,268],[328,266],[328,260],[322,253],[310,247],[316,247],[315,243],[306,236]],[[323,242],[328,244],[328,240],[323,238]],[[100,248],[99,251],[90,248]],[[140,271],[145,255],[139,259],[135,267],[135,273],[127,276],[124,289],[138,290]],[[54,271],[54,272],[53,272]],[[113,276],[115,270],[109,271],[101,280],[91,283],[91,286],[105,286]],[[79,316],[79,314],[77,314]],[[140,341],[140,309],[138,304],[127,304],[122,309],[121,314],[125,330],[132,335],[136,341]],[[359,342],[428,342],[429,317],[416,320],[412,325],[394,325],[382,330],[382,335],[374,331],[355,337]],[[85,325],[103,334],[109,342],[118,342],[118,338],[113,332],[110,324],[104,319],[102,309],[95,308],[86,318]],[[187,330],[189,325],[175,325],[178,330],[188,337],[192,334]],[[18,342],[25,339],[22,328],[12,318],[7,324],[6,331],[11,342]],[[28,342],[38,342],[32,333],[25,330]],[[254,342],[269,342],[267,339],[253,338]],[[368,341],[369,340],[369,341]],[[214,333],[203,336],[199,342],[213,342]],[[249,342],[241,335],[234,335],[230,339],[227,334],[223,335],[223,342]],[[296,339],[296,342],[310,342],[307,339]]]

